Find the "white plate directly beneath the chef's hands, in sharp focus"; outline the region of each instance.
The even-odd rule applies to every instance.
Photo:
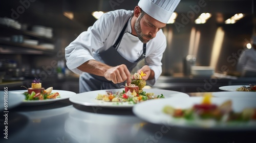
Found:
[[[124,88],[122,89],[109,89],[108,91],[122,92]],[[176,98],[176,97],[186,97],[188,98],[188,94],[178,92],[178,91],[172,91],[172,90],[163,90],[163,89],[143,89],[143,91],[155,93],[157,95],[163,94],[163,96],[166,98]],[[131,108],[134,106],[134,104],[123,102],[123,103],[117,103],[117,102],[104,102],[102,100],[96,100],[95,98],[98,96],[98,93],[105,94],[106,90],[96,90],[96,91],[89,91],[89,92],[83,92],[76,94],[76,96],[71,97],[69,100],[73,103],[80,104],[80,105],[86,105],[86,106],[100,106],[100,107],[114,107],[114,108]],[[146,101],[147,102],[147,101]]]

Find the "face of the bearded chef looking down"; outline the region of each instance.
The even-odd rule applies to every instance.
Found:
[[[141,42],[147,43],[151,39],[156,37],[156,33],[166,24],[162,23],[151,16],[140,14],[137,20],[135,21],[135,31],[137,33],[137,37]]]

